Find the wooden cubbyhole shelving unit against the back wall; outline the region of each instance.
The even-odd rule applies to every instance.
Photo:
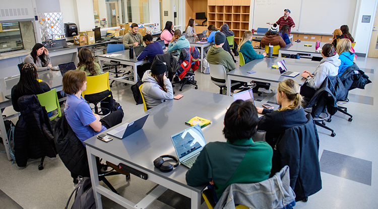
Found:
[[[249,30],[249,9],[248,0],[208,0],[208,24],[220,29],[227,23],[239,43],[244,31]]]

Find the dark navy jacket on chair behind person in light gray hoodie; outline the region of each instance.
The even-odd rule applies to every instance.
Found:
[[[311,115],[314,118],[319,117],[326,110],[334,115],[338,109],[337,101],[343,100],[347,92],[338,76],[329,76],[315,92],[306,107],[312,107]]]

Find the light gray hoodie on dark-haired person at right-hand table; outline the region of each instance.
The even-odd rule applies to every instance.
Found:
[[[337,76],[340,64],[339,54],[323,58],[315,69],[315,72],[313,72],[313,77],[307,78],[307,86],[312,89],[319,89],[327,76]]]

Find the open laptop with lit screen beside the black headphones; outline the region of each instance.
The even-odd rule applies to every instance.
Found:
[[[199,124],[186,128],[171,136],[178,161],[188,168],[196,162],[198,155],[206,145],[204,134]]]

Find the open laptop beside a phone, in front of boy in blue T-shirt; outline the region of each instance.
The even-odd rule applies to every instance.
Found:
[[[115,136],[117,138],[124,138],[126,136],[129,136],[135,132],[137,132],[138,130],[142,129],[143,125],[145,124],[148,116],[150,114],[147,114],[133,122],[130,122],[130,123],[124,123],[123,125],[117,127],[117,128],[114,128],[113,130],[110,130],[107,132],[107,134],[109,135],[112,135],[112,136]]]

